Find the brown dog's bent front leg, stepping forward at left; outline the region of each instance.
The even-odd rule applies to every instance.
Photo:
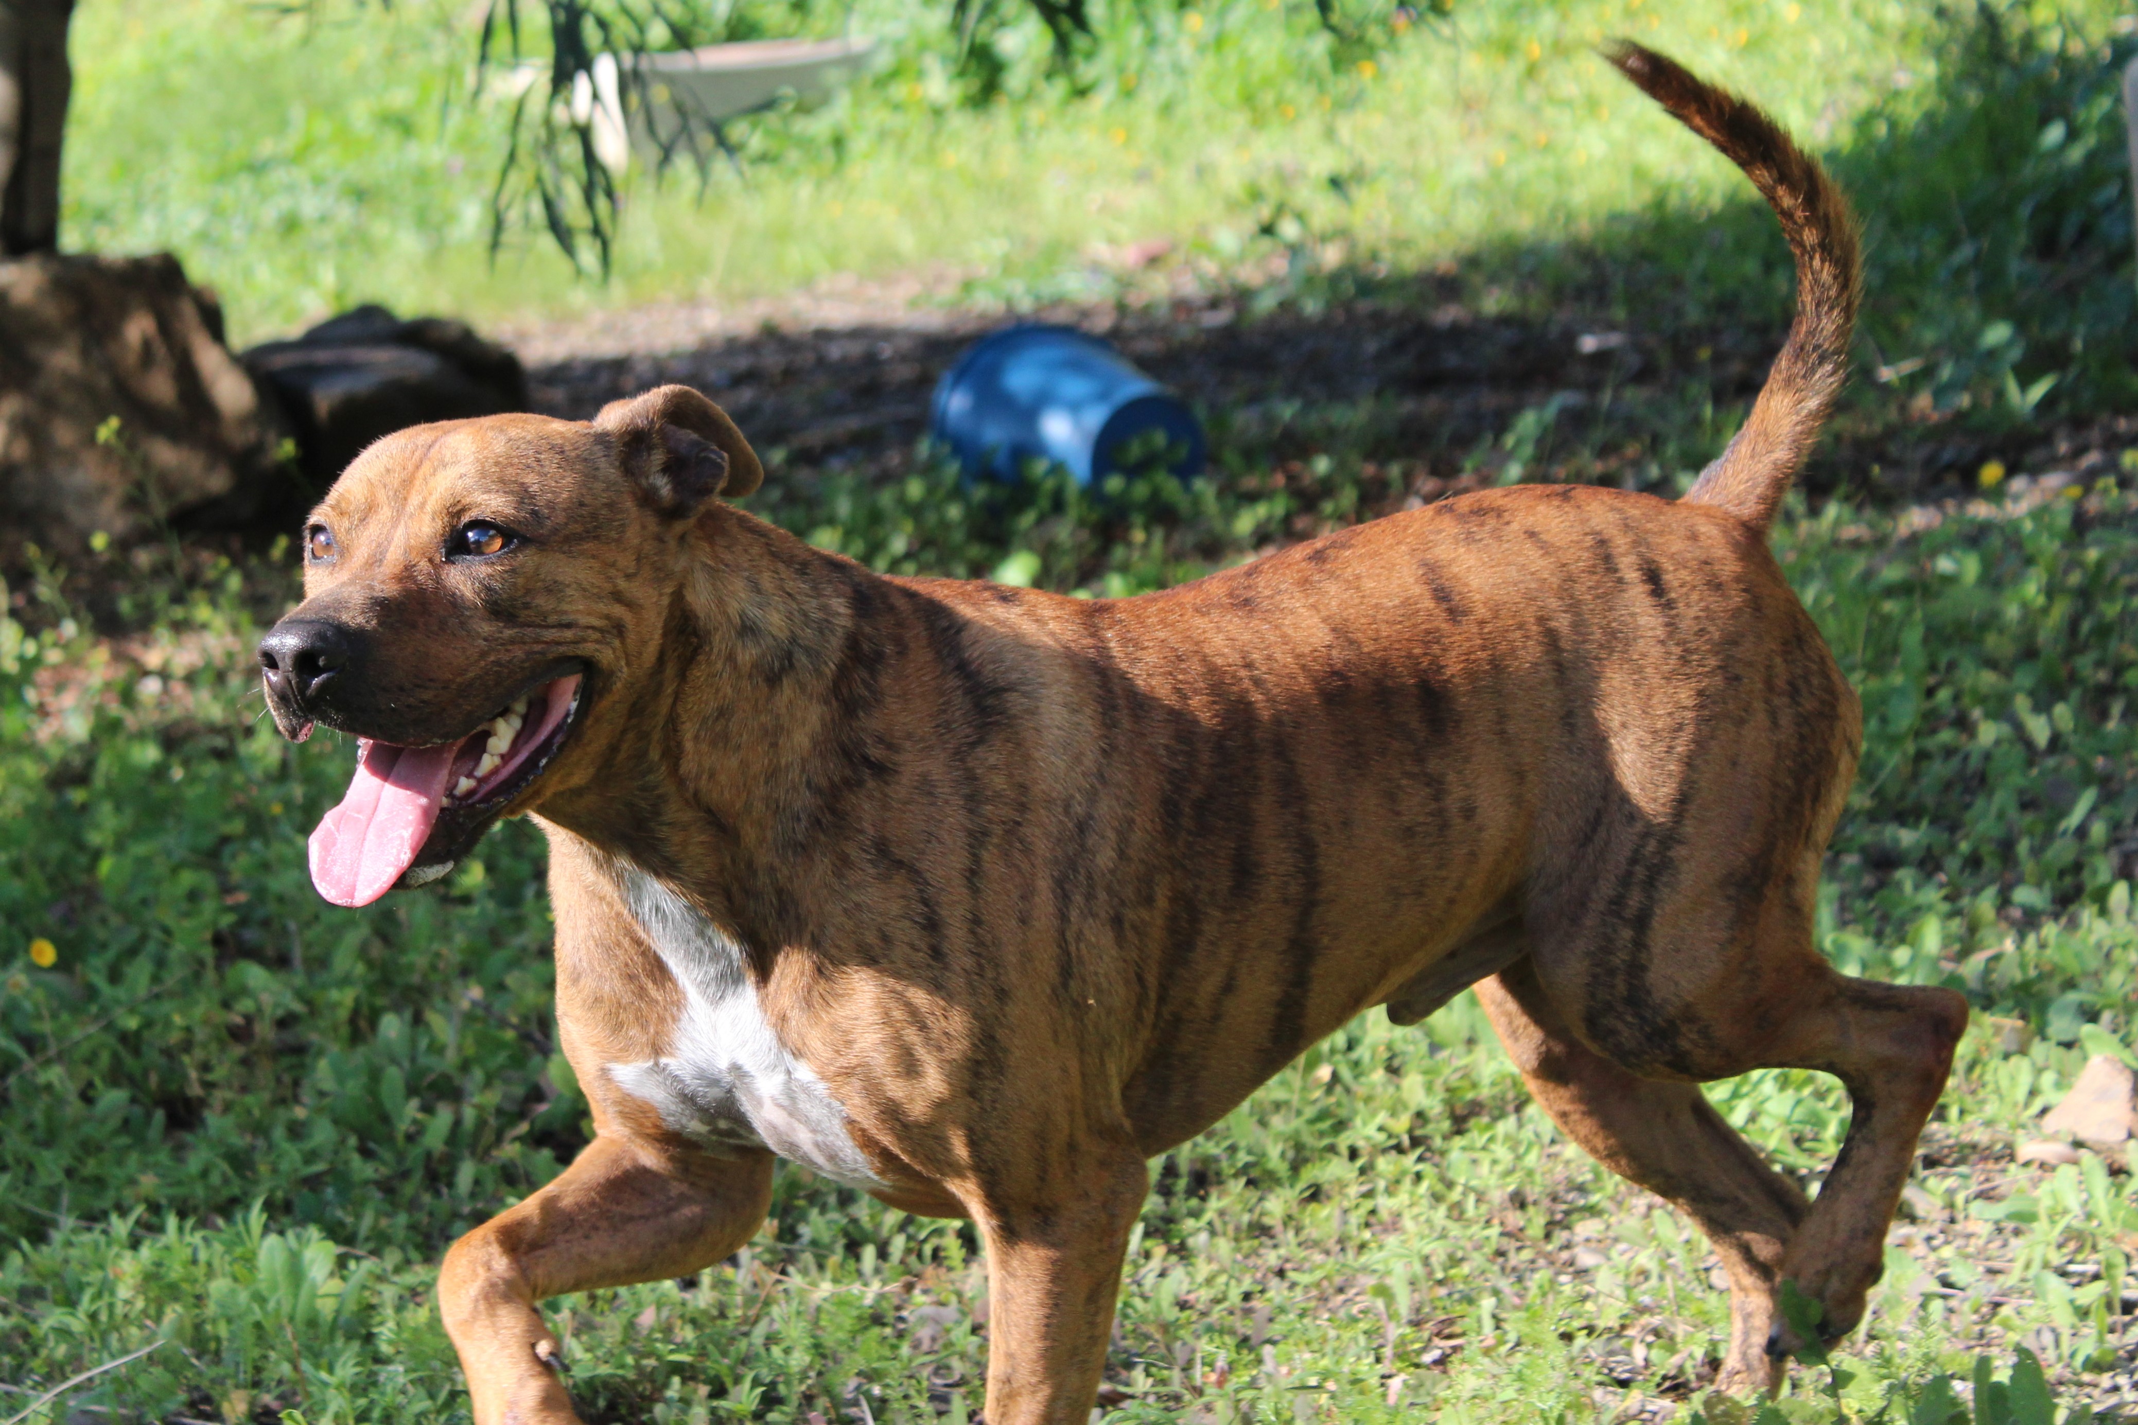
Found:
[[[537,1301],[710,1267],[750,1239],[770,1203],[772,1154],[597,1137],[547,1188],[455,1241],[438,1307],[475,1425],[577,1423]]]

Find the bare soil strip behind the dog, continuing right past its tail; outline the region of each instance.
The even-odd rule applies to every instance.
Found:
[[[1178,391],[1234,468],[1341,447],[1407,466],[1430,494],[1473,485],[1465,472],[1497,459],[1494,440],[1514,417],[1546,402],[1567,414],[1544,479],[1668,481],[1674,472],[1655,457],[1672,434],[1708,402],[1749,402],[1785,335],[1492,316],[1437,276],[1377,282],[1368,299],[1270,312],[1257,312],[1253,291],[1172,288],[1013,316],[951,306],[941,278],[845,284],[778,303],[678,303],[505,335],[530,365],[537,410],[586,419],[603,402],[673,380],[718,400],[753,444],[783,451],[797,472],[857,466],[892,479],[917,459],[934,385],[973,340],[1013,320],[1054,320],[1105,335]],[[1813,498],[1847,491],[1875,504],[1952,498],[1971,494],[1990,459],[2012,474],[2091,481],[2117,472],[2125,444],[2138,444],[2138,419],[1999,434],[1909,412],[1866,382],[1804,487]]]

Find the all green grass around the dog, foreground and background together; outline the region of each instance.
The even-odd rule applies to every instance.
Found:
[[[1512,0],[1370,56],[1264,4],[1182,9],[1086,96],[1011,64],[1018,103],[977,109],[911,19],[862,6],[857,28],[902,34],[894,64],[757,126],[746,177],[703,201],[637,190],[616,282],[584,286],[539,248],[485,265],[496,115],[453,98],[462,6],[306,28],[237,0],[86,0],[68,241],[177,248],[242,333],[363,297],[492,318],[917,263],[966,303],[1187,286],[1268,331],[1460,303],[1460,342],[1490,346],[1499,316],[1621,329],[1666,372],[1642,380],[1689,376],[1597,378],[1556,442],[1548,391],[1494,387],[1456,410],[1488,429],[1458,421],[1460,449],[1426,461],[1432,494],[1668,489],[1734,425],[1742,380],[1717,372],[1755,372],[1787,286],[1740,179],[1584,53],[1633,30],[1772,103],[1858,194],[1875,269],[1839,449],[1914,432],[1965,451],[1973,485],[1999,440],[2129,395],[2127,41],[2106,4]],[[1174,250],[1148,267],[1088,256],[1152,237]],[[1212,412],[1219,474],[1189,491],[977,496],[926,451],[797,444],[753,506],[879,568],[1133,594],[1424,489],[1381,464],[1377,402]],[[1839,1369],[1798,1369],[1785,1421],[1884,1404],[1952,1425],[1965,1397],[1976,1425],[2055,1425],[2048,1391],[2138,1412],[2134,1164],[2012,1158],[2087,1053],[2134,1043],[2138,453],[2089,461],[2087,483],[1933,511],[1796,508],[1777,536],[1869,724],[1824,949],[2016,1021],[1978,1017],[1871,1322]],[[528,827],[366,912],[306,884],[348,752],[259,716],[250,643],[286,564],[154,545],[21,570],[0,602],[0,1421],[455,1419],[430,1265],[584,1141]],[[1813,1184],[1845,1130],[1822,1079],[1715,1096]],[[1155,1181],[1112,1419],[1695,1410],[1723,1325],[1704,1246],[1556,1139],[1469,1000],[1420,1030],[1368,1015]],[[735,1260],[560,1303],[573,1389],[597,1421],[971,1419],[975,1254],[964,1226],[789,1171]]]

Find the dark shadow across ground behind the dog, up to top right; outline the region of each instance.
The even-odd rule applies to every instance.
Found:
[[[1933,73],[1896,77],[1822,145],[1864,220],[1869,271],[1856,380],[1804,481],[1815,496],[1924,498],[1971,485],[1990,457],[2091,479],[2138,438],[2114,419],[2138,395],[2119,98],[2138,45],[2003,0],[1933,24]],[[1794,299],[1749,186],[1437,273],[1328,267],[1313,235],[1266,246],[1287,276],[1259,286],[1016,306],[1107,331],[1199,406],[1234,474],[1328,457],[1383,470],[1394,506],[1512,479],[1674,491],[1736,427]],[[534,376],[543,408],[569,417],[659,380],[699,385],[800,479],[889,479],[917,459],[934,380],[1001,320],[768,331]]]

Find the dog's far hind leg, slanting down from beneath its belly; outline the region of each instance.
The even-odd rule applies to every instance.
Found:
[[[1779,1361],[1766,1340],[1777,1273],[1811,1203],[1695,1085],[1642,1079],[1582,1045],[1527,957],[1475,989],[1531,1096],[1561,1130],[1618,1177],[1674,1203],[1715,1246],[1730,1275],[1730,1350],[1717,1384],[1772,1389]]]

